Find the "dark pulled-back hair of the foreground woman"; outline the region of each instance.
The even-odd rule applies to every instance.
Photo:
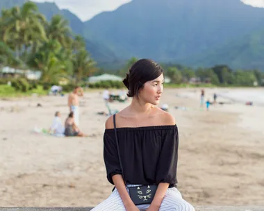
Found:
[[[135,62],[126,74],[123,83],[129,90],[127,96],[138,96],[140,89],[147,81],[152,81],[163,74],[163,68],[149,59],[140,59]]]

